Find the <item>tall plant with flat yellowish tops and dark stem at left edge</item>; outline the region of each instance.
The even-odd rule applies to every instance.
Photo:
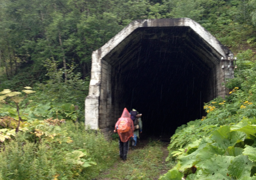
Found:
[[[0,92],[0,103],[5,103],[7,105],[10,105],[11,107],[14,107],[17,110],[18,113],[18,117],[19,117],[19,121],[18,121],[18,125],[16,127],[15,132],[18,133],[19,132],[19,127],[20,127],[20,121],[22,121],[21,117],[20,117],[20,102],[22,102],[23,100],[25,100],[28,97],[28,94],[34,93],[35,91],[30,90],[32,89],[32,87],[24,87],[26,90],[23,90],[22,92],[25,92],[25,95],[22,94],[21,92],[17,92],[17,91],[11,91],[9,89],[5,89],[2,92]],[[29,100],[29,102],[26,104],[27,105],[31,102],[31,100]]]

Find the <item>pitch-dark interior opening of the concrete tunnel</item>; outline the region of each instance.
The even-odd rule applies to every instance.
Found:
[[[115,69],[112,78],[120,78],[123,108],[143,114],[143,133],[170,137],[201,119],[203,103],[214,96],[206,42],[188,27],[139,28],[130,36],[105,60]]]

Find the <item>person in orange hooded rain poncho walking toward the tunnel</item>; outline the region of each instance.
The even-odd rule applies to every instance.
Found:
[[[126,108],[124,108],[122,116],[115,123],[114,133],[116,131],[119,135],[119,155],[125,161],[129,149],[129,139],[133,137],[134,132],[133,120],[131,120],[131,115]]]

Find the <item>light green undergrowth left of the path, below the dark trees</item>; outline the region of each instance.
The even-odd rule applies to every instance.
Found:
[[[78,78],[69,82],[77,77],[72,75],[70,68],[70,78],[63,87],[70,94],[75,83],[84,84]],[[50,79],[42,86],[56,90],[61,87],[61,80],[53,83]],[[93,178],[113,165],[118,156],[117,142],[110,143],[100,131],[86,129],[83,122],[77,122],[80,111],[73,104],[53,100],[44,103],[48,99],[46,93],[38,97],[38,92],[31,89],[0,92],[1,179],[82,180]],[[55,90],[51,97],[58,95]],[[39,98],[44,99],[35,102]]]

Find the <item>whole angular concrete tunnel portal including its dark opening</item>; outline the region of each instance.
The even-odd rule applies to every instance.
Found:
[[[133,21],[93,52],[85,125],[107,135],[124,107],[135,108],[143,133],[172,135],[227,94],[233,69],[221,69],[221,57],[233,53],[191,19]]]

